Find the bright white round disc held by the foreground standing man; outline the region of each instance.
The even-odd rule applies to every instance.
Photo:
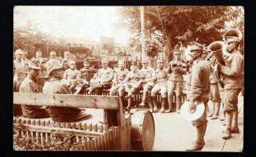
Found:
[[[189,102],[186,100],[181,106],[181,117],[188,121],[199,119],[205,110],[203,103],[196,104],[196,111],[193,113],[188,112]]]

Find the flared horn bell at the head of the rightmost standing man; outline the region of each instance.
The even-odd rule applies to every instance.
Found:
[[[231,29],[229,31],[226,31],[225,34],[223,35],[223,40],[226,43],[240,42],[241,39],[242,39],[242,33],[237,29]]]

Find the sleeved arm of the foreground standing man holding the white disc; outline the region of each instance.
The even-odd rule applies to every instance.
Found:
[[[202,93],[203,85],[200,80],[202,77],[201,69],[199,66],[192,69],[191,73],[191,86],[190,86],[190,94],[189,94],[189,102],[194,103],[199,100],[199,97]]]

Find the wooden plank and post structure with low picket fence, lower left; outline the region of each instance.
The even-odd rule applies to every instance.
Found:
[[[131,150],[131,117],[124,115],[118,96],[13,93],[13,104],[104,109],[104,122],[53,122],[48,119],[13,117],[20,126],[20,137],[31,137],[36,144],[49,144],[54,134],[71,135],[79,150]]]

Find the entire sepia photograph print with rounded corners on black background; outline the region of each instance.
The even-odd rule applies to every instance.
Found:
[[[13,7],[15,152],[243,152],[243,97],[243,6]]]

